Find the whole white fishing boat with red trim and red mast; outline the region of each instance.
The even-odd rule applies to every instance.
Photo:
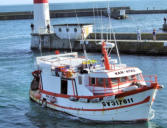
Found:
[[[57,111],[98,122],[148,121],[157,90],[157,76],[143,76],[109,56],[115,44],[102,41],[102,60],[76,52],[36,58],[30,98]]]

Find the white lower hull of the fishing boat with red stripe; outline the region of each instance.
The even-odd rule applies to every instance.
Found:
[[[30,91],[32,100],[70,115],[93,121],[147,121],[156,88],[97,103],[71,101],[68,96],[45,91]],[[154,97],[153,97],[154,96]],[[45,100],[43,100],[45,99]]]

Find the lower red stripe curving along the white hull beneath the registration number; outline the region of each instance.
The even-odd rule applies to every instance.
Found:
[[[108,111],[108,110],[115,110],[115,109],[127,108],[127,107],[132,107],[132,106],[135,106],[135,105],[144,104],[144,103],[149,102],[149,100],[150,100],[150,96],[148,96],[146,99],[144,99],[143,101],[138,102],[138,103],[124,105],[124,106],[119,106],[119,107],[115,107],[115,108],[103,108],[103,109],[80,109],[80,108],[72,108],[72,107],[60,106],[60,105],[52,104],[52,103],[49,103],[49,102],[47,102],[47,103],[51,104],[53,106],[59,107],[59,108],[69,109],[69,110],[78,110],[78,111]]]

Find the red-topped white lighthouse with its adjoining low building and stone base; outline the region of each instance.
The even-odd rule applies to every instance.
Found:
[[[33,0],[34,23],[31,24],[31,49],[52,50],[69,49],[75,41],[92,33],[93,27],[88,24],[50,24],[48,0]],[[80,48],[80,47],[79,47]],[[78,49],[78,48],[77,48]]]

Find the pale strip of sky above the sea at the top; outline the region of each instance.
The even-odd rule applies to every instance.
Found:
[[[103,1],[103,0],[49,0],[49,3],[63,2],[85,2],[85,1]],[[33,4],[33,0],[0,0],[0,5]]]

